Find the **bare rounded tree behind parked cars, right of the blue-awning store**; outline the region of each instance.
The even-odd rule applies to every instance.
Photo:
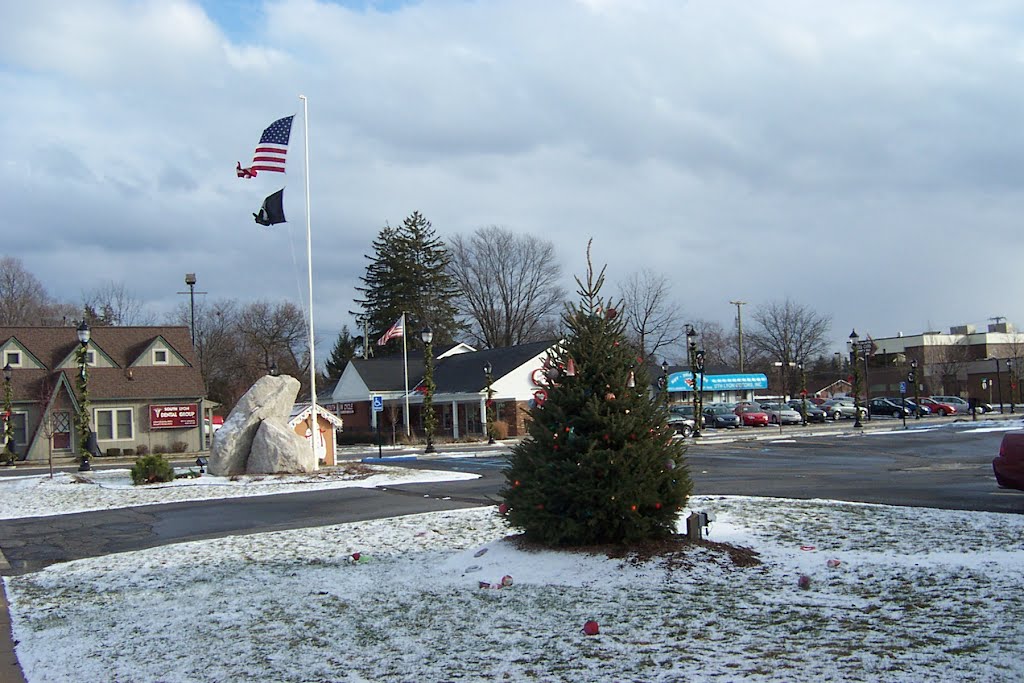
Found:
[[[783,375],[792,375],[798,371],[790,364],[810,362],[815,356],[824,354],[831,316],[785,299],[758,306],[754,311],[754,324],[755,329],[744,335],[748,345],[771,361],[781,362]],[[785,386],[796,385],[787,383],[783,377],[783,391]]]

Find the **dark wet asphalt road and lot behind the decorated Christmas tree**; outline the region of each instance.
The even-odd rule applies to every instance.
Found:
[[[895,427],[898,423],[893,422]],[[876,429],[880,426],[876,425]],[[1024,492],[995,486],[991,460],[1002,432],[968,423],[935,430],[856,435],[838,432],[775,438],[741,431],[721,441],[712,430],[688,451],[693,493],[772,496],[1024,513]],[[769,438],[771,437],[771,438]],[[477,446],[477,451],[479,447]],[[393,465],[468,471],[480,478],[401,486],[340,488],[242,499],[145,506],[0,521],[4,573],[54,562],[169,543],[338,524],[488,505],[503,484],[502,449],[477,458],[389,461]]]

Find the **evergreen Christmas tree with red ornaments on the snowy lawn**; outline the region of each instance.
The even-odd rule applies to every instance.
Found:
[[[624,316],[599,297],[604,269],[594,278],[589,247],[587,282],[577,283],[581,303],[563,315],[567,336],[548,357],[547,397],[509,458],[502,510],[544,545],[669,537],[691,490],[685,449],[651,399]]]

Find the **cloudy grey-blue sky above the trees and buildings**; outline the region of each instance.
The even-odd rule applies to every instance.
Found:
[[[416,210],[553,241],[570,289],[593,238],[611,291],[649,267],[687,319],[788,297],[837,349],[1024,326],[1022,29],[1000,0],[4,2],[0,251],[160,316],[185,272],[304,305],[304,94],[322,357]],[[237,178],[290,114],[287,177]]]

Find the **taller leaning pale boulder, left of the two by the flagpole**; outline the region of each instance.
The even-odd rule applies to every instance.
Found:
[[[275,418],[287,424],[297,395],[299,381],[294,377],[264,375],[259,378],[224,420],[224,425],[214,433],[210,474],[245,474],[260,423]]]

